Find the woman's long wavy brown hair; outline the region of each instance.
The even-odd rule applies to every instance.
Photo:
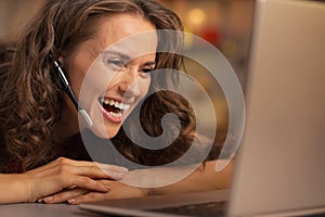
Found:
[[[27,25],[22,40],[16,44],[10,68],[1,71],[3,85],[0,99],[1,149],[5,150],[9,162],[22,165],[23,171],[49,162],[57,143],[53,135],[61,118],[65,93],[53,78],[50,55],[54,59],[68,56],[80,42],[95,35],[100,18],[117,13],[140,15],[157,29],[183,30],[176,13],[152,0],[46,0]],[[181,49],[181,34],[158,34],[158,49],[174,51]],[[174,52],[157,53],[156,62],[157,68],[178,69],[183,64],[182,56]],[[155,86],[161,80],[166,80],[164,85],[169,85],[170,79],[164,74],[154,75],[150,92],[154,92]],[[192,136],[185,132],[194,128],[195,118],[191,106],[180,95],[159,91],[148,98],[141,108],[143,129],[148,135],[159,135],[161,126],[157,117],[168,112],[181,119],[182,132],[178,141],[184,149],[173,145],[159,157],[148,158],[145,157],[147,150],[134,148],[121,129],[115,139],[123,144],[117,145],[119,151],[147,165],[160,164],[181,155],[191,143]],[[136,129],[132,130],[136,133]]]

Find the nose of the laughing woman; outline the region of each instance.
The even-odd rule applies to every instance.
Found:
[[[138,69],[136,67],[129,67],[122,73],[122,80],[118,86],[119,91],[122,92],[123,97],[138,97],[141,94],[138,81]]]

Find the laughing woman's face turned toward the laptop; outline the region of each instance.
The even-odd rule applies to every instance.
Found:
[[[98,137],[115,137],[147,93],[157,41],[153,24],[140,16],[118,14],[102,18],[98,34],[80,43],[72,56],[61,60]],[[67,104],[70,117],[76,117],[68,99]]]

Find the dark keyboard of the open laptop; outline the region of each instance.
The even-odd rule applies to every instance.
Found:
[[[193,204],[176,207],[167,207],[159,209],[151,209],[152,212],[166,213],[166,214],[179,214],[186,216],[199,216],[199,217],[219,217],[224,216],[225,202],[210,202],[204,204]]]

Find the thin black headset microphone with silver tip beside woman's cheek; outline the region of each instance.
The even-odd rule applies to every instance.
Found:
[[[86,122],[88,127],[92,126],[92,120],[90,119],[90,116],[88,115],[88,113],[86,112],[86,110],[82,108],[82,106],[79,104],[63,69],[61,68],[60,64],[57,61],[54,61],[54,66],[58,72],[58,77],[61,79],[61,81],[64,84],[64,90],[66,91],[66,93],[68,94],[68,97],[70,98],[70,100],[73,101],[74,105],[76,106],[78,113],[80,114],[80,116],[82,117],[82,119]]]

